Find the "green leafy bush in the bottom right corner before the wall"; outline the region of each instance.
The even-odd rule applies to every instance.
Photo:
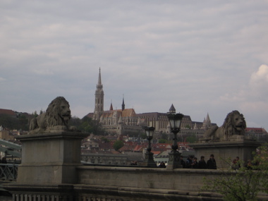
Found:
[[[204,178],[202,190],[224,195],[224,200],[257,200],[259,192],[268,193],[268,152],[267,146],[260,147],[255,154],[253,165],[240,169],[221,171],[219,178]],[[231,164],[231,160],[228,161]]]

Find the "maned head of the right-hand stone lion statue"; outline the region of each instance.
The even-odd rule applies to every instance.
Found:
[[[232,135],[244,135],[246,128],[245,118],[239,111],[231,111],[227,114],[222,127],[226,138],[230,138]]]

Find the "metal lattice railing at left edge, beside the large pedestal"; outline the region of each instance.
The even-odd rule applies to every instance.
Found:
[[[16,181],[18,176],[18,164],[0,164],[0,179]]]

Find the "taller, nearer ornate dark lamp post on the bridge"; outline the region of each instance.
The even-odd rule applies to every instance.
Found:
[[[183,118],[183,114],[176,114],[176,109],[173,104],[171,105],[167,117],[169,118],[169,125],[171,128],[171,132],[174,135],[172,150],[169,153],[169,163],[167,169],[178,169],[182,168],[181,166],[181,153],[178,152],[178,140],[177,133],[181,130],[181,120]]]

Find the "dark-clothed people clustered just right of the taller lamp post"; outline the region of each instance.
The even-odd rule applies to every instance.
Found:
[[[217,164],[214,159],[214,154],[211,154],[207,162],[205,162],[205,157],[201,156],[200,161],[197,162],[197,157],[189,156],[186,162],[181,156],[181,165],[185,169],[217,169]]]

